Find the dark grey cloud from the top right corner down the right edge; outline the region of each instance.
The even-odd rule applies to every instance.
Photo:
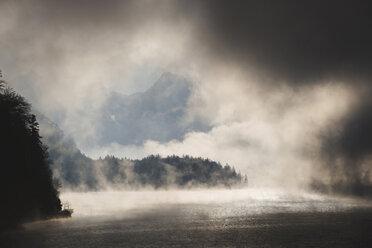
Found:
[[[276,90],[342,82],[349,111],[321,131],[322,173],[334,191],[371,192],[371,17],[364,1],[203,1],[206,54],[254,73]],[[356,103],[355,102],[358,102]],[[316,166],[315,166],[316,167]],[[368,193],[371,194],[371,193]]]

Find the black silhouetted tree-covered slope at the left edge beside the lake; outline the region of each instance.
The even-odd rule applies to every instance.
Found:
[[[25,99],[0,81],[0,230],[61,211],[46,148]]]

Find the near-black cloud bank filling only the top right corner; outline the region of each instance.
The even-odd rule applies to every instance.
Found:
[[[202,1],[213,54],[306,84],[371,77],[367,1]]]

